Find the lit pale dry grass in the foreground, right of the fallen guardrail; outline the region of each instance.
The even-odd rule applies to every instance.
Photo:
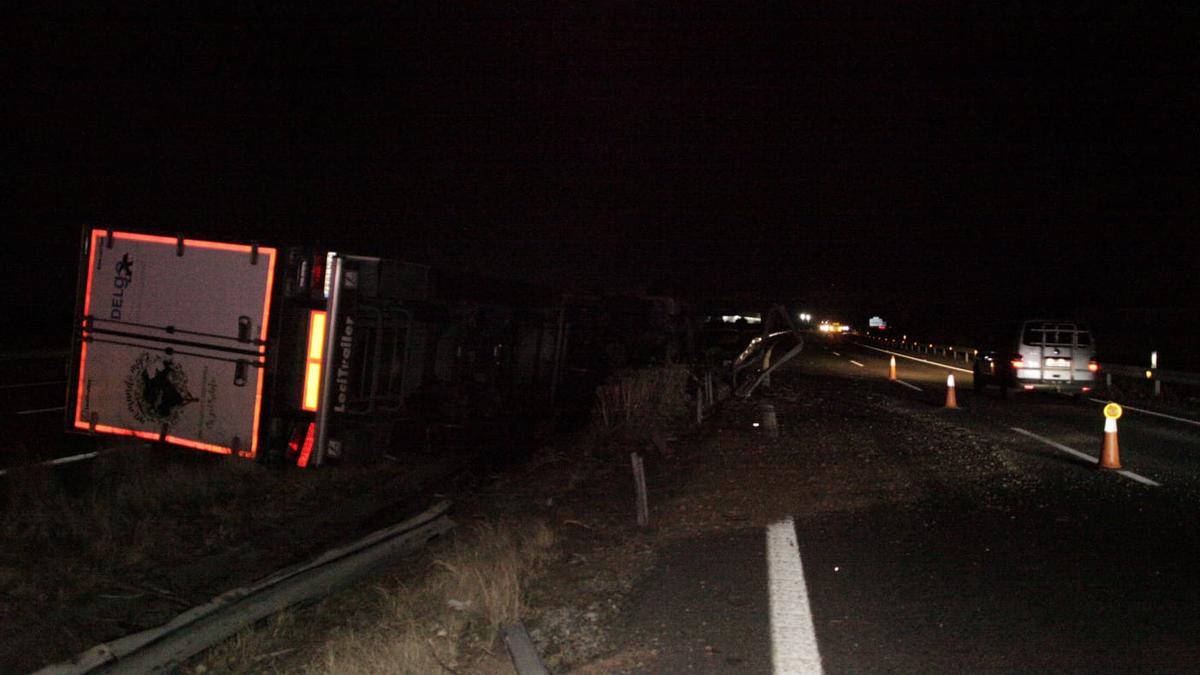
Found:
[[[212,650],[190,670],[244,673],[511,671],[497,644],[502,625],[526,609],[529,579],[557,555],[545,522],[478,522],[428,552],[424,574],[330,599],[306,615],[340,616],[298,634],[292,615],[272,619]],[[342,607],[336,607],[341,604]],[[284,627],[281,631],[281,627]],[[292,651],[307,644],[302,651]],[[290,646],[288,646],[290,645]]]

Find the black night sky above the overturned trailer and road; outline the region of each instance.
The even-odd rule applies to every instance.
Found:
[[[65,327],[103,223],[859,321],[1196,306],[1195,10],[562,5],[16,18],[5,304]]]

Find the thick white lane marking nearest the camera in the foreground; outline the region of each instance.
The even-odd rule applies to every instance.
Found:
[[[767,526],[770,658],[775,673],[824,673],[792,516]]]

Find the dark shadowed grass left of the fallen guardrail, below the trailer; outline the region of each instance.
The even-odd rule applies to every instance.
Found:
[[[280,472],[148,447],[11,474],[0,494],[0,670],[66,658],[216,595],[224,589],[172,587],[163,571],[223,555],[372,482],[356,467]]]

